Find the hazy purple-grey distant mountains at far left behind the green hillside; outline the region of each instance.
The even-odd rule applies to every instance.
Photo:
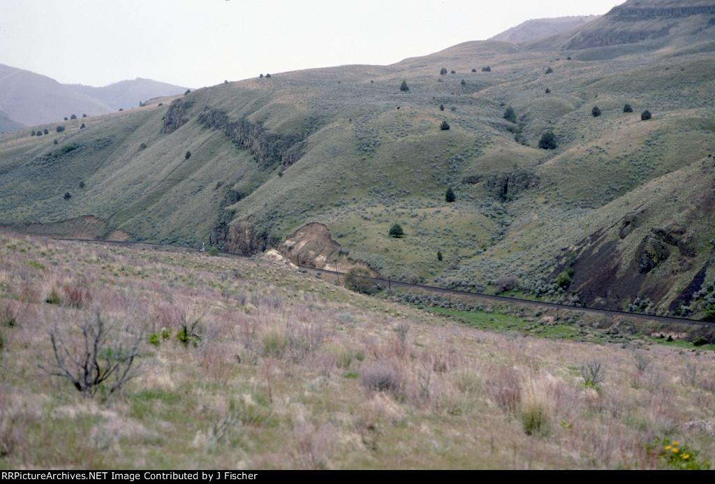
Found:
[[[59,122],[72,114],[106,114],[185,91],[185,87],[140,78],[105,87],[60,84],[48,76],[0,64],[0,112],[6,114],[0,131]]]

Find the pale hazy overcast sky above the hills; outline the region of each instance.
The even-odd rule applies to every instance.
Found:
[[[0,64],[62,83],[204,87],[295,69],[393,64],[528,19],[623,0],[0,0]]]

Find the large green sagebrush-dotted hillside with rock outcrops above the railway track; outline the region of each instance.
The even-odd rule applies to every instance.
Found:
[[[0,223],[277,247],[467,290],[511,276],[521,295],[711,317],[713,8],[627,1],[543,39],[226,82],[5,134]],[[555,149],[539,147],[546,132]],[[329,232],[305,237],[308,224]]]

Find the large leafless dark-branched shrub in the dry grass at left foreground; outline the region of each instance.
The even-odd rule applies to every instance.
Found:
[[[99,311],[79,325],[82,337],[71,337],[55,324],[48,330],[53,357],[39,367],[64,377],[85,397],[92,397],[107,382],[109,395],[139,375],[136,359],[143,335],[120,332],[108,325]]]

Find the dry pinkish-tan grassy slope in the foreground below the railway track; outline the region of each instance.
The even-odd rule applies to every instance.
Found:
[[[77,370],[98,318],[99,362],[134,348],[138,372],[79,392],[46,371],[50,335]],[[623,346],[457,325],[265,260],[4,234],[0,468],[709,467],[712,353]]]

